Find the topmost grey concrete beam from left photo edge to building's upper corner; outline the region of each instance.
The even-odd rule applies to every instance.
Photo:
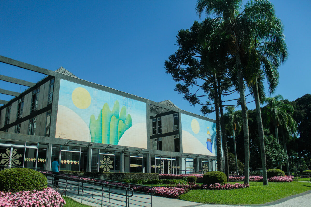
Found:
[[[17,66],[17,67],[20,67],[20,68],[24,68],[24,69],[27,69],[27,70],[32,70],[32,71],[35,71],[35,72],[38,72],[38,73],[55,76],[55,71],[48,70],[48,69],[45,69],[45,68],[40,68],[38,66],[30,65],[28,63],[17,61],[17,60],[8,58],[8,57],[0,56],[0,62],[7,63],[9,65],[14,65],[14,66]]]

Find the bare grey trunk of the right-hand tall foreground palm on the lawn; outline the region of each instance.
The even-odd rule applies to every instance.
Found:
[[[257,124],[258,124],[258,135],[259,135],[259,140],[260,140],[263,185],[268,185],[265,138],[264,138],[263,127],[262,127],[260,100],[259,100],[259,94],[258,94],[258,84],[257,84],[256,79],[255,79],[255,85],[253,88],[253,92],[254,92],[254,97],[255,97]]]

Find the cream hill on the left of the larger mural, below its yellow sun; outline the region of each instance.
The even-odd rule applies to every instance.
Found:
[[[63,105],[58,105],[55,137],[91,142],[90,129],[83,119]]]

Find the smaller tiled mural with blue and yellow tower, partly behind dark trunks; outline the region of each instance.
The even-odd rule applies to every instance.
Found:
[[[216,124],[181,114],[183,153],[217,155]]]

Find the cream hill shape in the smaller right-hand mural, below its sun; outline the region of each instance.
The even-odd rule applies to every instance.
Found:
[[[200,155],[212,155],[207,148],[192,134],[187,131],[182,131],[183,135],[183,153],[192,153],[192,154],[200,154]]]

